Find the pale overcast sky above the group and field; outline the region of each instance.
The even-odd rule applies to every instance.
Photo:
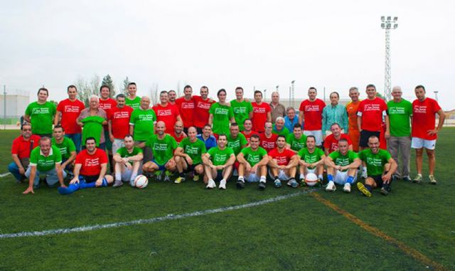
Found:
[[[66,97],[78,77],[126,76],[146,95],[178,82],[233,98],[279,85],[289,97],[310,86],[384,89],[380,16],[399,17],[391,33],[392,85],[414,100],[415,85],[439,91],[455,109],[454,1],[6,1],[0,9],[0,85]],[[34,96],[34,94],[33,94]],[[328,96],[328,95],[327,95]],[[34,97],[33,97],[34,99]]]

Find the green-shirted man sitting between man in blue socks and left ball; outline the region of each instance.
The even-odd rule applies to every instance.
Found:
[[[134,179],[137,174],[141,174],[142,149],[134,146],[134,139],[131,134],[123,139],[124,147],[117,149],[114,154],[115,163],[115,182],[112,187],[120,187],[124,181],[129,181],[129,185],[134,187]]]

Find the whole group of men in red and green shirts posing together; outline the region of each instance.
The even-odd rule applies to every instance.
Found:
[[[153,107],[149,97],[137,97],[136,92],[136,84],[130,83],[128,95],[114,100],[103,85],[100,97],[92,95],[85,108],[74,85],[68,86],[68,99],[57,106],[47,101],[48,90],[40,88],[38,100],[26,108],[26,122],[11,151],[9,171],[18,181],[28,179],[24,193],[34,193],[40,175],[49,186],[59,182],[60,193],[73,193],[111,183],[119,187],[124,181],[134,186],[139,174],[162,181],[176,174],[174,183],[179,184],[189,173],[195,181],[202,177],[207,188],[215,188],[219,181],[221,189],[234,172],[237,188],[257,182],[264,189],[268,174],[275,187],[286,181],[295,188],[299,182],[305,184],[309,173],[322,181],[324,171],[327,191],[340,184],[350,192],[363,168],[365,184],[357,186],[371,196],[376,187],[383,194],[390,192],[393,179],[411,181],[411,147],[417,154],[413,181],[423,180],[426,149],[429,181],[437,184],[434,147],[444,112],[436,100],[425,97],[422,85],[415,87],[417,100],[412,104],[402,98],[400,87],[393,88],[394,99],[387,104],[377,97],[374,85],[367,85],[362,101],[358,89],[351,87],[346,107],[339,103],[338,92],[331,93],[326,105],[310,87],[298,116],[294,108],[279,102],[278,92],[266,103],[256,90],[250,102],[237,87],[236,99],[226,102],[222,89],[216,102],[208,97],[208,87],[193,95],[186,85],[183,97],[177,98],[173,90],[160,92]]]

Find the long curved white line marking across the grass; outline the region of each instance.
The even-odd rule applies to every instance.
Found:
[[[192,213],[182,213],[181,215],[174,215],[173,213],[170,213],[167,216],[160,216],[157,218],[139,219],[139,220],[116,222],[116,223],[101,224],[101,225],[87,225],[87,226],[82,226],[82,227],[77,227],[77,228],[58,228],[58,229],[53,229],[53,230],[28,231],[28,232],[22,232],[22,233],[4,233],[4,234],[0,234],[0,239],[56,235],[56,234],[65,234],[65,233],[80,233],[80,232],[100,230],[100,229],[105,229],[105,228],[119,228],[119,227],[125,227],[125,226],[129,226],[129,225],[151,224],[151,223],[161,222],[161,221],[165,221],[165,220],[177,220],[177,219],[181,219],[181,218],[191,218],[193,216],[205,216],[205,215],[210,215],[212,213],[223,213],[226,211],[240,210],[240,209],[244,209],[244,208],[261,206],[261,205],[264,205],[267,203],[274,203],[277,201],[282,201],[287,198],[293,198],[296,196],[305,195],[307,193],[311,193],[311,192],[314,192],[317,190],[319,190],[319,189],[313,188],[313,189],[309,189],[309,190],[300,191],[297,193],[289,193],[289,194],[283,195],[283,196],[267,198],[262,201],[255,201],[252,203],[246,203],[246,204],[228,206],[228,207],[222,207],[222,208],[216,208],[216,209],[208,209],[208,210],[203,210],[203,211],[195,211]]]

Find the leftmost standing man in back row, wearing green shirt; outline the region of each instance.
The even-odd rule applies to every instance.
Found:
[[[31,122],[32,133],[40,137],[52,137],[52,124],[57,107],[48,102],[49,91],[45,87],[38,90],[38,101],[32,102],[26,108],[23,119]]]

